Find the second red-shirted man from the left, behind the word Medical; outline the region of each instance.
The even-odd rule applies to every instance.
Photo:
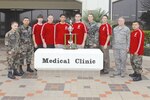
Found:
[[[43,47],[44,48],[55,48],[53,15],[49,15],[47,20],[48,21],[43,25],[42,30],[41,30]]]

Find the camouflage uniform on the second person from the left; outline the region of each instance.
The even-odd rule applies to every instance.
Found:
[[[24,25],[21,25],[19,27],[19,33],[21,48],[20,64],[24,64],[24,59],[26,59],[26,64],[31,64],[33,54],[32,29],[30,26],[25,27]]]

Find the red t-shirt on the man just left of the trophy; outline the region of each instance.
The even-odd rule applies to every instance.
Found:
[[[57,23],[55,25],[55,42],[56,44],[64,45],[65,34],[69,34],[68,31],[69,24]]]

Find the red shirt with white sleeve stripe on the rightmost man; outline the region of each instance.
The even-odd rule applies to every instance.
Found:
[[[144,32],[141,29],[134,30],[130,36],[130,54],[144,54]]]

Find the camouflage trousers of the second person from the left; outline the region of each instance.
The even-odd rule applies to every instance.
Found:
[[[26,64],[31,64],[33,49],[33,45],[21,45],[20,65],[24,65],[24,60],[26,60]]]

